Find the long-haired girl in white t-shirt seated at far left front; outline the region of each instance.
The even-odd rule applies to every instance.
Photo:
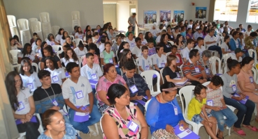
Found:
[[[40,135],[38,132],[39,122],[34,116],[36,108],[33,93],[29,88],[23,87],[22,79],[15,71],[7,74],[5,83],[19,133],[26,132],[27,139],[38,138]]]

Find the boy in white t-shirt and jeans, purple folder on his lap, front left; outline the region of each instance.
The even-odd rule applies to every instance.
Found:
[[[66,70],[71,76],[62,85],[64,102],[69,106],[69,120],[73,128],[89,133],[88,126],[99,122],[101,113],[94,105],[92,87],[87,78],[80,76],[80,67],[76,63],[68,63]]]

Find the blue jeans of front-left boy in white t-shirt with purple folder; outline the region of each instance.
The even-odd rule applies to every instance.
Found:
[[[90,126],[92,124],[96,124],[97,122],[99,122],[99,120],[101,118],[101,113],[99,113],[99,110],[96,105],[93,105],[92,113],[89,114],[89,116],[90,116],[89,120],[87,120],[85,122],[74,122],[73,117],[74,117],[75,113],[76,113],[76,111],[74,111],[71,108],[69,109],[70,123],[73,125],[74,129],[76,129],[78,131],[82,131],[83,133],[89,133],[88,126]]]

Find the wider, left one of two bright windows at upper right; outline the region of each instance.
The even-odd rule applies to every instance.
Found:
[[[236,22],[239,0],[216,0],[214,20]]]

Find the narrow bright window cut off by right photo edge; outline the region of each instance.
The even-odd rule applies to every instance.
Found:
[[[258,22],[258,0],[250,0],[248,6],[248,21],[249,23]]]

